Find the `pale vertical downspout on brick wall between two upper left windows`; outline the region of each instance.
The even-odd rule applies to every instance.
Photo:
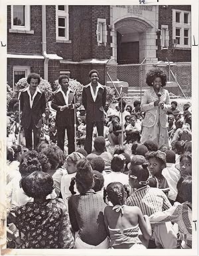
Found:
[[[48,80],[48,61],[46,53],[46,6],[42,5],[42,55],[44,57],[44,79]]]

